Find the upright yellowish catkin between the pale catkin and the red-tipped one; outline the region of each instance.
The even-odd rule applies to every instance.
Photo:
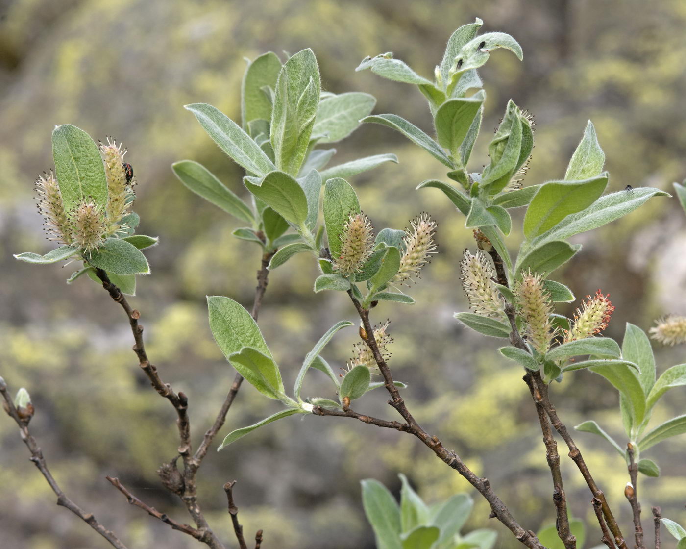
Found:
[[[550,321],[552,301],[543,287],[543,277],[531,272],[524,273],[514,285],[514,294],[519,314],[526,322],[525,336],[534,349],[543,355],[550,348],[550,342],[558,330]]]

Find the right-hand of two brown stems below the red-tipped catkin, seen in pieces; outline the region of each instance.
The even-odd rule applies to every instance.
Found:
[[[504,278],[504,267],[502,265],[502,260],[500,259],[495,248],[493,248],[493,250],[491,250],[489,253],[490,256],[493,257],[493,263],[498,274],[498,279],[500,280]],[[496,261],[496,259],[498,261]],[[523,351],[529,352],[528,347],[521,338],[521,334],[519,334],[519,329],[517,329],[514,307],[512,307],[512,305],[508,303],[505,307],[505,313],[508,316],[508,320],[510,321],[510,328],[512,329],[510,333],[510,343],[512,343],[514,347],[518,347]],[[548,386],[543,382],[543,379],[541,378],[541,373],[532,372],[530,373],[530,375],[534,388],[541,395],[540,404],[541,406],[543,406],[543,410],[545,410],[545,413],[549,417],[550,423],[552,424],[553,428],[558,432],[558,434],[562,436],[565,443],[567,443],[567,447],[569,448],[569,454],[567,455],[571,458],[571,460],[573,460],[574,463],[576,463],[577,468],[581,472],[584,480],[586,481],[586,484],[588,485],[589,489],[591,490],[591,493],[593,494],[593,498],[596,498],[600,501],[603,515],[607,522],[607,526],[613,533],[615,543],[617,544],[617,546],[619,546],[620,549],[628,549],[628,547],[626,546],[626,541],[624,540],[624,535],[622,535],[622,530],[619,529],[619,525],[617,524],[617,520],[615,519],[615,516],[613,515],[610,506],[608,505],[608,502],[605,498],[605,494],[600,488],[598,488],[598,484],[595,483],[595,480],[593,480],[591,471],[589,471],[589,468],[587,467],[586,462],[584,461],[580,449],[578,449],[576,443],[574,443],[574,440],[571,438],[571,435],[569,434],[569,431],[567,430],[565,424],[562,421],[560,421],[555,406],[553,406],[550,401],[550,398],[548,396]]]

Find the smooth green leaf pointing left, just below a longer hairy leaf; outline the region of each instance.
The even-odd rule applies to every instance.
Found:
[[[239,220],[252,223],[254,218],[248,205],[224,187],[224,184],[202,164],[182,160],[172,164],[171,169],[188,189]]]

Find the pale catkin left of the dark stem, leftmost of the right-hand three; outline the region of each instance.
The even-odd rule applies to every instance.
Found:
[[[464,250],[464,257],[460,261],[460,278],[462,289],[469,300],[472,312],[482,316],[504,316],[504,301],[500,298],[495,282],[495,272],[490,261],[481,250],[472,254]]]

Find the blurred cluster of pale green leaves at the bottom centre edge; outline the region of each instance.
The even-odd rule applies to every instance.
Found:
[[[466,493],[427,505],[399,474],[400,504],[373,479],[362,480],[362,504],[379,549],[491,549],[497,533],[490,528],[463,534],[474,502]]]

